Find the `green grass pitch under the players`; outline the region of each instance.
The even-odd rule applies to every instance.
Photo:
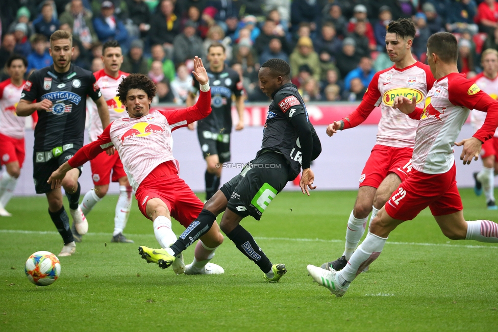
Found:
[[[498,220],[483,197],[461,194],[467,220]],[[267,284],[227,238],[213,259],[223,275],[177,276],[146,264],[138,246],[158,246],[152,222],[133,200],[125,234],[135,243],[110,243],[117,196],[109,196],[88,215],[89,234],[61,258],[61,276],[47,287],[28,281],[24,263],[38,250],[59,253],[61,238],[44,197],[15,197],[13,217],[0,217],[0,331],[498,330],[498,245],[446,239],[429,210],[391,234],[344,297],[313,283],[306,265],[342,253],[355,197],[283,192],[261,221],[244,219],[270,260],[287,267],[280,283]],[[182,226],[173,222],[173,231]],[[190,263],[193,246],[184,256]]]

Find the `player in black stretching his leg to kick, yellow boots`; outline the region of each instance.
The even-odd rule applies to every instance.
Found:
[[[256,220],[269,203],[294,180],[303,168],[300,187],[303,194],[313,186],[312,160],[321,152],[321,144],[310,123],[306,106],[295,85],[290,83],[289,64],[280,59],[266,61],[259,70],[261,90],[273,99],[266,118],[262,148],[232,180],[223,185],[206,202],[204,210],[166,251],[176,256],[205,234],[225,212],[219,224],[247,258],[265,273],[268,282],[276,283],[287,271],[284,264],[271,264],[254,238],[241,225],[246,216]],[[170,256],[165,259],[171,259]]]

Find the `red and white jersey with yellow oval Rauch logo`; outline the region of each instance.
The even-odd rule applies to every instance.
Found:
[[[418,122],[392,108],[396,96],[417,98],[417,106],[424,106],[434,76],[428,65],[416,62],[403,69],[392,66],[374,75],[363,101],[380,106],[382,116],[377,131],[377,144],[392,147],[413,147]]]

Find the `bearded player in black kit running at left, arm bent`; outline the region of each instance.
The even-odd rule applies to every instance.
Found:
[[[18,116],[38,112],[33,149],[33,180],[37,194],[44,193],[48,200],[48,214],[64,241],[58,256],[70,256],[76,244],[69,229],[69,218],[62,204],[60,188],[51,189],[48,177],[83,146],[86,98],[97,104],[104,128],[109,124],[109,110],[104,97],[95,84],[91,71],[71,64],[72,36],[58,30],[50,37],[49,52],[54,64],[34,71],[17,104]],[[33,103],[33,101],[36,101]],[[81,168],[67,172],[62,186],[69,200],[69,211],[78,233],[88,231],[88,222],[79,207]]]

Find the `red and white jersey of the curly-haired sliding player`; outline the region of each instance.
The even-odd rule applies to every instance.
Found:
[[[158,165],[175,161],[171,132],[203,119],[210,113],[211,90],[208,90],[201,91],[197,103],[188,108],[171,111],[151,110],[138,119],[126,117],[114,120],[97,140],[79,149],[68,161],[69,165],[83,165],[114,145],[130,185],[136,191],[144,178]],[[178,168],[178,163],[176,164]]]

